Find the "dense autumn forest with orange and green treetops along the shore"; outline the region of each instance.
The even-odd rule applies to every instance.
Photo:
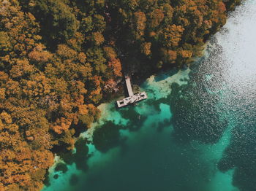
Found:
[[[0,190],[40,190],[123,74],[183,66],[240,0],[0,0]]]

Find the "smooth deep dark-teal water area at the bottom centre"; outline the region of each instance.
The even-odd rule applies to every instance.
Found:
[[[207,190],[206,183],[212,171],[217,169],[202,160],[200,152],[192,145],[175,145],[170,140],[170,133],[159,135],[154,129],[141,135],[134,144],[127,144],[127,151],[108,165],[91,171],[78,190],[82,187],[94,191],[102,187],[113,191]]]

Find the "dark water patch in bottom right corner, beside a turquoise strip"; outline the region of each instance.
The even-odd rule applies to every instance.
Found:
[[[256,188],[256,124],[234,128],[232,140],[219,161],[220,171],[235,168],[233,184],[241,191]]]

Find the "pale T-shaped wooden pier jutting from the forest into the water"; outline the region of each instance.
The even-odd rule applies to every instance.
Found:
[[[118,108],[121,108],[123,106],[128,106],[130,104],[136,104],[136,102],[142,101],[143,99],[148,98],[148,96],[146,95],[146,92],[137,93],[137,94],[133,93],[131,77],[129,77],[129,75],[125,76],[125,83],[127,85],[127,91],[128,91],[129,97],[116,101]]]

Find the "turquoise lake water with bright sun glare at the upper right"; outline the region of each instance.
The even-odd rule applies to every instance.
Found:
[[[256,1],[245,1],[203,58],[143,83],[146,101],[99,106],[80,160],[50,168],[43,190],[256,190],[255,24]]]

